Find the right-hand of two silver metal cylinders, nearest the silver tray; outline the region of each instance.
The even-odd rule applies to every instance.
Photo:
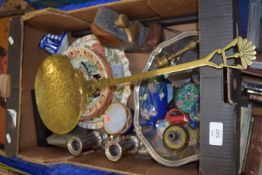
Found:
[[[121,159],[122,154],[126,151],[132,154],[136,153],[139,144],[136,136],[127,136],[119,142],[111,140],[105,146],[105,155],[109,160],[116,162]]]

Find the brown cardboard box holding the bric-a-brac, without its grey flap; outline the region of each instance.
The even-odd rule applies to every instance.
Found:
[[[198,10],[196,0],[161,0],[161,2],[158,0],[122,0],[105,6],[126,13],[131,19],[139,20],[191,15],[196,14]],[[19,76],[12,82],[15,84],[12,86],[12,92],[14,92],[14,99],[17,99],[19,103],[13,106],[17,112],[17,121],[16,127],[9,127],[7,130],[12,141],[6,143],[6,153],[8,155],[17,154],[25,160],[37,163],[68,162],[125,174],[198,174],[197,163],[181,168],[168,168],[153,160],[142,160],[132,156],[123,157],[121,161],[114,163],[108,161],[101,151],[91,151],[80,157],[73,157],[63,149],[37,146],[31,90],[34,89],[36,70],[41,61],[48,56],[44,50],[38,48],[39,41],[47,32],[70,32],[89,28],[98,7],[70,12],[45,9],[28,13],[21,19],[15,18],[12,21],[11,36],[18,36],[12,36],[14,44],[11,46],[11,51],[16,50],[13,59],[18,65],[14,65],[11,71],[19,73]],[[178,26],[178,30],[179,27],[182,30],[196,29],[196,25]],[[19,36],[19,31],[21,36]],[[171,34],[166,33],[166,36],[171,37]],[[70,42],[72,41],[73,39],[70,38]],[[17,48],[18,46],[20,48]],[[137,73],[142,70],[148,53],[130,53],[127,54],[127,57],[130,61],[131,72]],[[132,100],[129,105],[132,105]],[[8,126],[11,126],[12,120],[8,118]]]

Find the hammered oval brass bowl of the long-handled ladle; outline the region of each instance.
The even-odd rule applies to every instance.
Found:
[[[37,107],[45,126],[56,134],[68,133],[79,121],[85,91],[76,77],[70,61],[61,55],[47,57],[37,70]]]

